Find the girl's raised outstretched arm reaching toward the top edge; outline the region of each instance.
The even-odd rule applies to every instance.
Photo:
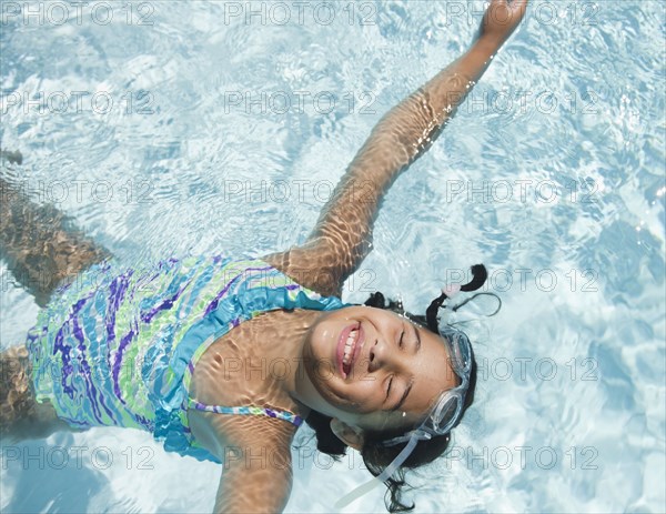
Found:
[[[525,14],[528,0],[492,0],[470,50],[389,111],[372,130],[302,246],[264,258],[301,284],[336,294],[372,248],[395,179],[434,142]]]

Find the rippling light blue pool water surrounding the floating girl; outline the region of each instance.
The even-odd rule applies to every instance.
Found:
[[[3,2],[3,149],[33,198],[128,263],[302,242],[380,117],[472,40],[480,1]],[[534,1],[386,195],[343,296],[425,311],[468,266],[480,363],[416,512],[665,512],[666,11]],[[37,305],[3,264],[0,344]],[[294,449],[287,512],[367,480]],[[210,512],[220,466],[95,429],[3,445],[2,512]],[[408,475],[410,476],[410,475]],[[333,486],[334,485],[334,486]],[[375,490],[346,512],[383,512]]]

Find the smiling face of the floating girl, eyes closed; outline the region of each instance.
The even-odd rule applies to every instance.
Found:
[[[303,357],[313,386],[306,404],[362,430],[411,429],[460,383],[441,336],[369,306],[319,318]]]

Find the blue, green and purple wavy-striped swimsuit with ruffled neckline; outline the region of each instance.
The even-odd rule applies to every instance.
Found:
[[[61,286],[28,334],[36,399],[77,429],[148,430],[168,451],[220,462],[188,426],[188,409],[258,414],[261,405],[203,405],[189,396],[198,360],[220,336],[262,312],[331,311],[334,296],[299,285],[261,260],[186,258],[147,270],[104,261]]]

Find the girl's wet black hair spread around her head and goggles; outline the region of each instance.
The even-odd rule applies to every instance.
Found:
[[[485,268],[478,265],[473,266],[472,272],[474,274],[474,280],[468,284],[461,286],[462,291],[474,291],[481,288],[481,285],[483,285],[483,283],[485,282],[485,279],[487,276]],[[400,301],[396,302],[394,300],[389,300],[389,303],[386,303],[386,300],[381,292],[371,294],[371,296],[365,301],[364,304],[377,309],[386,309],[397,314],[404,315],[405,318],[413,321],[414,323],[417,323],[424,329],[437,335],[441,335],[437,330],[436,313],[446,299],[446,294],[442,293],[441,296],[433,300],[433,302],[426,311],[425,316],[414,315],[406,312],[403,309],[402,302]],[[465,396],[465,403],[463,405],[463,414],[465,413],[467,407],[470,407],[470,405],[472,405],[472,403],[474,402],[475,389],[476,361],[474,359],[474,353],[472,353],[472,370],[470,373],[470,385],[467,394]],[[331,420],[332,417],[330,416],[321,414],[316,411],[311,411],[310,415],[305,421],[315,432],[317,450],[322,453],[331,455],[335,461],[340,461],[341,457],[345,455],[347,445],[343,443],[331,430]],[[393,462],[397,454],[407,444],[407,442],[404,442],[393,446],[384,446],[383,442],[403,434],[404,430],[364,432],[365,437],[363,447],[361,449],[361,456],[363,457],[363,463],[374,476],[379,476],[382,473],[382,471],[384,471],[384,468],[386,468],[389,464]],[[387,478],[384,482],[384,484],[387,487],[386,495],[384,496],[384,503],[389,512],[410,512],[414,510],[414,504],[406,505],[402,501],[402,495],[405,492],[405,488],[411,488],[405,481],[406,471],[423,466],[425,464],[430,464],[434,460],[442,456],[446,452],[450,441],[451,434],[446,433],[444,435],[436,435],[427,441],[418,441],[416,443],[414,451],[405,460],[402,466],[400,466],[396,470],[392,477]]]

